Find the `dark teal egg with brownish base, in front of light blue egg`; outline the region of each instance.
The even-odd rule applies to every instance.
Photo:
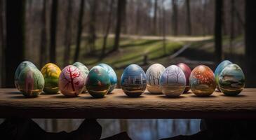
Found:
[[[111,83],[107,71],[102,66],[93,66],[86,78],[86,88],[90,95],[102,98],[109,92]]]

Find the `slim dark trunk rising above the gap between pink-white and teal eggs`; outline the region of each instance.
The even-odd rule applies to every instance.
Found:
[[[77,62],[77,60],[79,59],[81,34],[83,32],[83,7],[84,7],[84,0],[81,0],[80,9],[79,9],[78,29],[77,29],[77,35],[76,35],[76,50],[74,53],[74,62]]]

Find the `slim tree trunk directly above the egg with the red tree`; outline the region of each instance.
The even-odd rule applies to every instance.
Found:
[[[66,30],[65,30],[65,52],[64,52],[64,66],[69,64],[70,45],[72,43],[72,0],[67,1],[67,17],[66,17]]]

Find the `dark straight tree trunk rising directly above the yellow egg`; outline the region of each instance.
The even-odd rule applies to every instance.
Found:
[[[58,0],[52,1],[50,13],[50,62],[56,62],[56,31],[58,19]]]

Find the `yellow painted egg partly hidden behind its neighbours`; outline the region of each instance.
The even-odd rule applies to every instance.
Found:
[[[58,79],[60,76],[60,68],[53,64],[53,63],[48,63],[43,66],[41,69],[41,73],[43,74],[44,78],[44,87],[43,87],[43,92],[46,93],[58,93],[59,87],[58,87]]]

